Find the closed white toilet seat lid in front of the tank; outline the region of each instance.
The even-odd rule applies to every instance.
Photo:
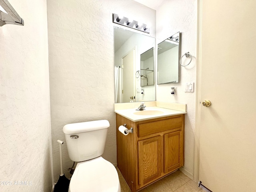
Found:
[[[119,192],[120,183],[114,165],[102,157],[78,162],[70,180],[70,192]]]

